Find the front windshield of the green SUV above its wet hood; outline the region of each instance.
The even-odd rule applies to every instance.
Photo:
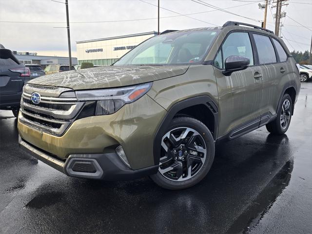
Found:
[[[139,44],[114,65],[196,64],[203,61],[219,30],[181,31]]]

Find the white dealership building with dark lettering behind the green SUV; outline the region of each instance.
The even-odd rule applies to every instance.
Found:
[[[77,41],[78,63],[92,62],[94,65],[109,66],[139,43],[155,35],[157,32]]]

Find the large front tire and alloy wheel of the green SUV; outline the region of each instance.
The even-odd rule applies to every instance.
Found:
[[[161,140],[157,174],[152,180],[162,188],[178,190],[194,186],[209,172],[215,142],[209,129],[192,117],[176,117]]]

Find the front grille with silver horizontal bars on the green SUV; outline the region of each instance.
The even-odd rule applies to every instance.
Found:
[[[22,95],[20,122],[42,132],[56,136],[63,135],[75,121],[85,103],[78,102],[76,98],[41,96],[39,104],[34,104],[30,98],[30,88],[27,87],[28,93],[23,92]],[[38,87],[36,88],[38,90]]]

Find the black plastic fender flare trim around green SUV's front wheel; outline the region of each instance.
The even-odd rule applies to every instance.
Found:
[[[154,137],[154,144],[153,144],[153,155],[154,155],[154,163],[155,165],[159,164],[159,156],[160,156],[160,145],[161,145],[161,138],[165,134],[165,131],[170,126],[171,120],[175,117],[176,113],[179,111],[195,106],[198,104],[205,105],[209,111],[213,114],[215,120],[214,126],[214,139],[217,137],[217,130],[218,130],[218,107],[215,101],[209,97],[208,95],[198,96],[194,98],[188,98],[182,101],[175,103],[167,112],[166,116],[162,119],[161,123],[159,124],[155,137]]]

